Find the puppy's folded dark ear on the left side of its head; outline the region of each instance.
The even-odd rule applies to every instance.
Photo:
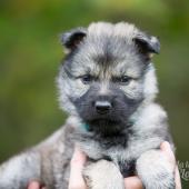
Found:
[[[72,51],[82,42],[86,36],[87,30],[84,28],[77,28],[62,33],[60,40],[68,51]]]

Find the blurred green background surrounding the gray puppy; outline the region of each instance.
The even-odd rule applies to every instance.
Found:
[[[0,161],[63,123],[54,84],[63,57],[58,36],[98,20],[135,22],[160,37],[159,101],[169,113],[177,158],[189,161],[189,1],[180,0],[1,0]]]

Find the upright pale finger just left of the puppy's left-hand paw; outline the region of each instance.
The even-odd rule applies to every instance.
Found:
[[[86,162],[86,156],[78,148],[71,159],[69,189],[87,189],[82,178],[82,168]]]

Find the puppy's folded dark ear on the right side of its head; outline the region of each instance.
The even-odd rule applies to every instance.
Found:
[[[153,53],[160,52],[160,42],[157,37],[140,33],[133,38],[133,41],[139,52],[147,54],[149,58]]]

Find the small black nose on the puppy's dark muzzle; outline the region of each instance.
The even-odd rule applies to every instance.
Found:
[[[96,110],[98,113],[108,113],[111,109],[111,103],[109,101],[96,101],[94,103]]]

